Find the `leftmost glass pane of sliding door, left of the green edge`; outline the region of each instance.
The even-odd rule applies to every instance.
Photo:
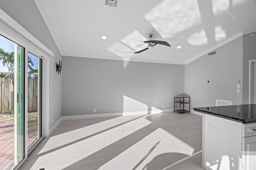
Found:
[[[14,166],[14,42],[2,35],[0,35],[0,143],[0,169],[12,168]]]

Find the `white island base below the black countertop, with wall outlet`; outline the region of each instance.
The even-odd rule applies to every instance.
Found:
[[[203,126],[203,168],[256,170],[256,123],[244,124],[205,114]]]

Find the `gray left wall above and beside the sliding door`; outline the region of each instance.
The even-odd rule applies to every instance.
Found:
[[[62,60],[62,56],[44,22],[34,0],[2,0],[0,8],[36,37],[54,53],[53,63]],[[52,65],[54,70],[54,65]],[[50,110],[50,127],[61,117],[62,76],[53,71],[52,104]],[[53,119],[53,123],[51,120]]]

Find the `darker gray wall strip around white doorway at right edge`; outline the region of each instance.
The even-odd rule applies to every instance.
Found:
[[[249,60],[256,59],[256,32],[243,35],[243,104],[249,104]]]

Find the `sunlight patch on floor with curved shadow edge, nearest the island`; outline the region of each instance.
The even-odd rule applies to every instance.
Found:
[[[164,153],[180,153],[191,156],[194,153],[194,148],[164,129],[158,128],[101,166],[100,170],[115,169],[120,162],[122,162],[124,169],[141,170],[146,168],[147,164],[156,156]]]

